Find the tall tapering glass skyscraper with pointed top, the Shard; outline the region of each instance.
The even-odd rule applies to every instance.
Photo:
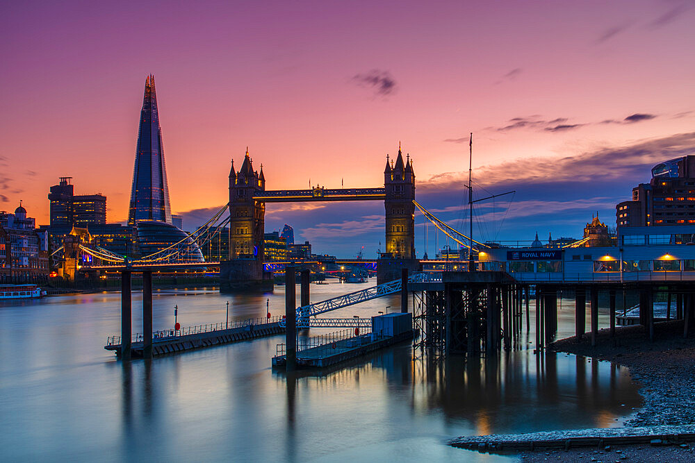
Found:
[[[141,220],[172,223],[162,129],[159,126],[154,75],[145,80],[145,99],[140,112],[140,131],[133,169],[128,224]]]

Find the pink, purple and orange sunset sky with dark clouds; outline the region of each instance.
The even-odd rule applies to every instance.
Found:
[[[47,224],[49,187],[72,176],[77,194],[107,196],[109,222],[125,221],[152,73],[172,211],[188,230],[227,202],[246,146],[269,190],[370,187],[399,141],[418,201],[463,229],[473,132],[475,195],[516,190],[481,203],[476,239],[581,237],[596,211],[614,226],[615,203],[657,162],[695,154],[694,7],[4,2],[0,209],[22,199]],[[265,228],[373,257],[383,216],[379,202],[269,205]]]

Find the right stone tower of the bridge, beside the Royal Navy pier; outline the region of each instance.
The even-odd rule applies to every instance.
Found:
[[[415,172],[410,155],[403,161],[398,144],[398,157],[384,169],[384,208],[386,218],[386,249],[379,256],[377,280],[386,282],[400,278],[401,269],[418,269],[415,257]]]

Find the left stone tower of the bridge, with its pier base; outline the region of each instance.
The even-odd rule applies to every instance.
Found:
[[[260,172],[254,171],[247,149],[241,169],[236,171],[232,160],[229,172],[229,260],[220,262],[220,284],[228,289],[264,287],[265,203],[254,200],[263,191],[263,165]]]

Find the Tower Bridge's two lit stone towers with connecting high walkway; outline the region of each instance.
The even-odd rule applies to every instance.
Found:
[[[386,252],[377,260],[377,280],[400,278],[402,269],[418,269],[415,257],[415,172],[410,155],[400,146],[395,161],[386,155],[384,187],[266,190],[263,165],[254,170],[248,150],[237,171],[229,172],[229,259],[220,262],[224,289],[272,288],[272,274],[263,266],[265,204],[322,201],[384,201]]]

